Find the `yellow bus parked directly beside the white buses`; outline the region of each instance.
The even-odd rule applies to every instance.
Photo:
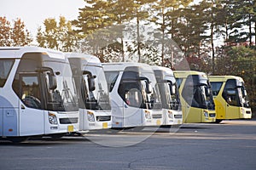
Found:
[[[179,88],[183,122],[215,122],[215,105],[206,73],[173,71]]]

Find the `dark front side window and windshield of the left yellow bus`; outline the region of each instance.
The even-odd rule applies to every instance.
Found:
[[[182,95],[186,102],[193,107],[214,110],[212,90],[206,77],[189,75]]]

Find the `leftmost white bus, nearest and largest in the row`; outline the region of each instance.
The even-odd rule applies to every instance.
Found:
[[[0,136],[22,141],[79,129],[68,60],[46,48],[0,48]]]

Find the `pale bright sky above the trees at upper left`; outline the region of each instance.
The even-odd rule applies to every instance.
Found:
[[[44,26],[44,20],[64,16],[67,20],[77,19],[79,8],[84,8],[84,0],[0,0],[0,17],[13,20],[20,18],[36,37],[38,27]]]

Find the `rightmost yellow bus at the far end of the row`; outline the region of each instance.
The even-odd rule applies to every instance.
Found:
[[[247,91],[241,77],[211,76],[212,93],[216,105],[216,122],[224,119],[250,119]]]

